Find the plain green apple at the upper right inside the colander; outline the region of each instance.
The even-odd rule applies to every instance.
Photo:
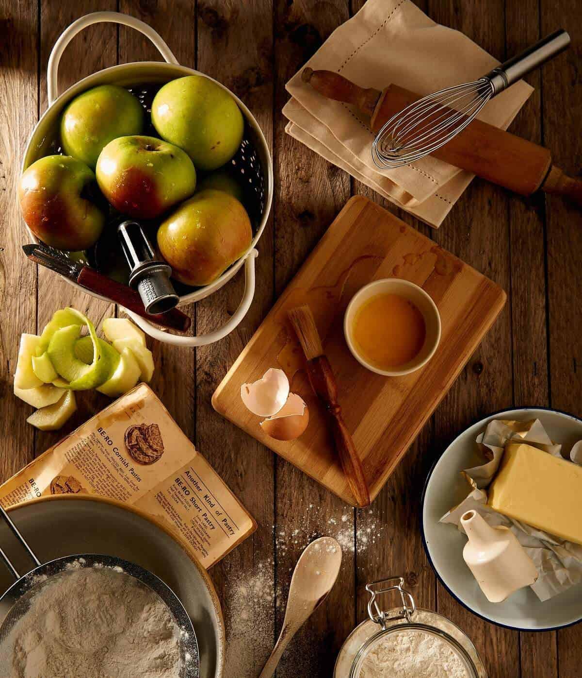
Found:
[[[227,90],[204,75],[166,83],[154,98],[152,123],[166,141],[192,158],[198,169],[217,169],[238,151],[244,118]]]

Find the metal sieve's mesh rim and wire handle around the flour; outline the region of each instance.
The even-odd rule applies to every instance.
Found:
[[[148,589],[154,591],[162,599],[173,616],[180,632],[179,652],[181,668],[179,678],[200,677],[200,655],[192,621],[177,595],[160,578],[149,570],[145,570],[144,567],[135,565],[135,563],[130,563],[112,555],[102,555],[99,553],[79,553],[56,558],[47,563],[41,563],[1,504],[0,513],[5,523],[36,565],[30,572],[20,575],[9,557],[0,548],[0,557],[10,572],[12,572],[14,578],[16,578],[16,582],[0,597],[0,646],[7,640],[14,625],[29,610],[32,598],[40,595],[43,586],[54,577],[64,574],[73,563],[75,563],[75,569],[79,568],[78,563],[81,564],[81,567],[107,567],[119,574],[133,577],[141,584],[147,586]]]

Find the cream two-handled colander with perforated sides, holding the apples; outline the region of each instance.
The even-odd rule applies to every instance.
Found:
[[[103,71],[98,71],[93,73],[93,75],[83,78],[58,96],[58,67],[66,46],[77,33],[83,31],[83,28],[102,22],[122,24],[143,33],[154,43],[158,52],[164,58],[164,62],[134,62],[104,68]],[[256,243],[265,230],[265,224],[267,224],[273,200],[273,163],[267,140],[265,140],[265,136],[261,132],[261,128],[252,113],[250,113],[248,108],[235,94],[208,75],[200,73],[200,71],[196,71],[194,68],[181,66],[160,35],[143,21],[127,14],[120,14],[119,12],[94,12],[93,14],[87,14],[87,16],[77,19],[65,29],[51,51],[47,67],[49,106],[28,140],[22,161],[22,172],[44,155],[58,153],[58,127],[61,113],[70,100],[81,94],[81,92],[85,92],[86,89],[96,87],[97,85],[111,84],[126,87],[137,95],[143,107],[149,112],[148,109],[151,106],[157,89],[165,83],[185,75],[202,75],[217,83],[219,87],[225,89],[233,97],[244,117],[245,127],[242,143],[236,155],[225,165],[225,168],[228,168],[229,173],[235,176],[238,179],[238,183],[244,187],[243,203],[252,224],[253,237],[248,250],[227,268],[217,280],[209,285],[194,288],[175,283],[179,296],[178,306],[200,301],[216,292],[233,278],[243,266],[245,275],[244,294],[240,305],[229,320],[214,332],[202,336],[177,336],[170,334],[160,330],[156,325],[153,325],[150,321],[132,311],[126,310],[126,313],[146,334],[161,342],[177,346],[204,346],[212,344],[232,332],[250,308],[255,287],[254,259],[259,254],[256,251]],[[30,232],[28,227],[27,231],[31,241],[38,243],[38,239]],[[123,258],[122,255],[121,258]],[[112,303],[111,299],[95,294],[68,278],[65,279],[82,292]]]

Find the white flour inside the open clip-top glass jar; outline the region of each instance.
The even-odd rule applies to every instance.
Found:
[[[424,631],[397,631],[378,639],[358,678],[469,678],[449,643]]]

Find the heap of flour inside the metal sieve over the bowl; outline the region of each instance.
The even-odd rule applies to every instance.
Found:
[[[179,678],[179,633],[148,586],[79,565],[39,586],[0,646],[0,666],[7,678]]]

